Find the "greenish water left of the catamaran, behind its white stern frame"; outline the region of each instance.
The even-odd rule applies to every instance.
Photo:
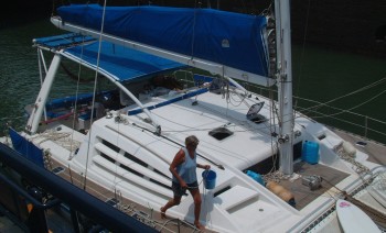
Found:
[[[9,122],[17,130],[23,129],[26,122],[24,107],[35,102],[39,93],[41,79],[32,40],[61,33],[65,32],[53,26],[50,20],[0,30],[0,135],[3,135]],[[46,60],[50,66],[51,59]],[[53,93],[57,97],[72,95],[73,87],[74,80],[61,76],[53,86]],[[81,89],[85,89],[85,86]]]

